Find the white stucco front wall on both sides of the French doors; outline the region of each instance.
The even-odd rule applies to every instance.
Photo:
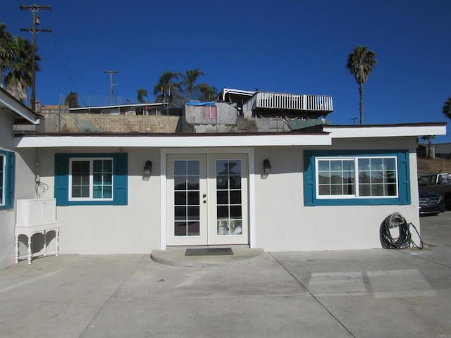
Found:
[[[412,204],[374,206],[304,206],[304,151],[393,149],[409,151]],[[396,139],[335,139],[333,146],[264,146],[253,149],[254,212],[249,213],[255,247],[266,251],[379,248],[379,228],[394,212],[419,228],[414,137]],[[62,149],[39,149],[39,172],[54,196],[54,158]],[[209,152],[209,149],[204,149]],[[60,252],[79,254],[150,253],[161,249],[161,149],[64,149],[73,154],[128,154],[128,204],[125,206],[58,206]],[[214,151],[211,151],[212,153]],[[31,157],[31,154],[29,154]],[[271,161],[272,172],[262,177],[262,163]],[[152,177],[142,180],[145,161],[152,161]],[[11,237],[11,234],[10,234]],[[12,241],[11,241],[12,244]]]

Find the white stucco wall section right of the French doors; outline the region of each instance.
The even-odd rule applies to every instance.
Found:
[[[304,206],[304,161],[301,147],[260,148],[255,151],[256,168],[264,158],[272,173],[255,182],[255,236],[266,251],[303,251],[380,248],[379,229],[383,220],[398,212],[419,229],[416,187],[416,142],[414,138],[335,140],[328,150],[409,150],[410,205],[388,206]],[[315,147],[320,150],[321,147]]]

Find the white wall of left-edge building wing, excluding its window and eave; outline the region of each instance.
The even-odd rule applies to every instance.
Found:
[[[15,152],[13,145],[12,115],[0,113],[0,150],[15,153],[14,200],[35,197],[35,176],[32,171],[32,151],[25,150],[21,154]],[[13,208],[0,209],[0,268],[11,265],[15,261],[15,225],[16,204]]]

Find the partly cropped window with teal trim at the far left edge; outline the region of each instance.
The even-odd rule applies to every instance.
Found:
[[[15,161],[12,151],[0,151],[0,209],[14,207]]]

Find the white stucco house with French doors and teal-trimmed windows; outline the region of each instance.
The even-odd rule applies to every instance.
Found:
[[[394,212],[419,227],[416,136],[445,132],[445,123],[14,138],[8,130],[7,142],[16,158],[33,159],[23,177],[16,161],[16,191],[32,191],[24,178],[39,175],[41,198],[56,199],[61,254],[301,251],[380,248],[381,223]],[[13,227],[13,211],[4,212],[1,227]],[[5,265],[13,235],[1,231]]]

